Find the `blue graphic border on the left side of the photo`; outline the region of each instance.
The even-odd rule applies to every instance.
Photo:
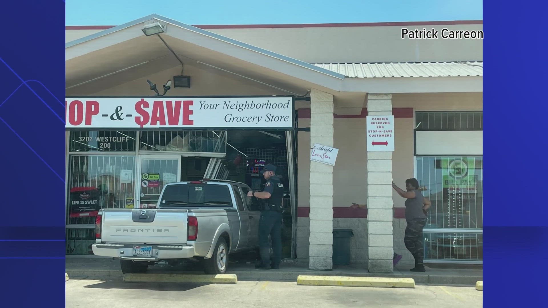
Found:
[[[4,306],[65,303],[65,2],[2,3]],[[12,305],[9,305],[12,304]]]

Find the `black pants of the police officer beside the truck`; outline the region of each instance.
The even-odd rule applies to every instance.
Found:
[[[282,259],[282,213],[273,210],[261,212],[259,219],[259,251],[262,265],[279,265]],[[270,260],[270,239],[272,260]]]

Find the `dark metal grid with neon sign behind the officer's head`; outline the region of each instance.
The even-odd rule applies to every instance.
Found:
[[[247,155],[247,162],[238,167],[238,173],[249,174],[259,173],[265,163],[274,164],[280,170],[287,172],[287,151],[275,149],[252,149],[238,148],[239,151]]]

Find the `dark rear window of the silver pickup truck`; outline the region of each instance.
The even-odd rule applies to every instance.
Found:
[[[165,187],[161,206],[232,206],[226,185],[178,184]]]

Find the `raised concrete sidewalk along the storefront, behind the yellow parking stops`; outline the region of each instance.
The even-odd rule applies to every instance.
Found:
[[[246,261],[230,263],[227,273],[238,276],[238,281],[297,281],[299,275],[323,276],[362,276],[362,277],[396,277],[413,278],[416,284],[440,286],[475,286],[483,281],[482,270],[468,269],[430,269],[424,273],[410,272],[412,265],[397,265],[393,273],[369,273],[365,265],[334,266],[331,271],[312,271],[307,264],[283,263],[279,270],[255,270],[253,264]],[[66,272],[72,279],[115,279],[122,278],[118,259],[85,258],[67,256]],[[203,273],[199,264],[182,264],[178,266],[155,265],[149,267],[150,273]]]

